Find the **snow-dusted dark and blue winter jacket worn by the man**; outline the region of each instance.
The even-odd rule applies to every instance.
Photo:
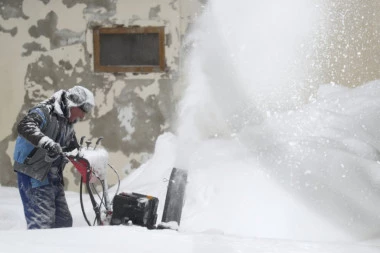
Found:
[[[38,181],[46,179],[52,162],[45,161],[46,150],[40,148],[40,141],[45,136],[59,143],[64,151],[78,148],[73,125],[67,120],[68,108],[64,93],[65,91],[57,92],[51,99],[32,108],[19,122],[19,136],[16,139],[13,157],[13,168],[16,172]],[[64,164],[54,166],[61,167]]]

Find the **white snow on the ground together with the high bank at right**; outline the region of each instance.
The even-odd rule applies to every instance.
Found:
[[[379,97],[380,81],[325,85],[302,108],[229,136],[161,135],[120,191],[158,197],[161,217],[171,169],[187,169],[179,232],[87,227],[75,192],[74,228],[25,231],[17,189],[0,187],[1,252],[379,252]]]

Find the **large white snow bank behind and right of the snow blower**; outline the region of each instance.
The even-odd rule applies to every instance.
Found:
[[[380,81],[355,89],[322,85],[299,109],[230,135],[190,140],[165,133],[152,159],[121,188],[154,195],[163,205],[162,179],[177,167],[189,173],[180,231],[374,238],[380,233],[379,98]]]

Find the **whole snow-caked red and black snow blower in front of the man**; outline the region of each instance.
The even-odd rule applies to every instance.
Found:
[[[140,193],[118,193],[120,177],[117,171],[108,163],[108,153],[103,148],[97,148],[103,137],[100,137],[94,147],[91,141],[83,146],[83,136],[80,149],[65,156],[81,175],[80,203],[83,216],[89,226],[93,225],[137,225],[148,229],[178,229],[184,204],[187,172],[174,168],[168,180],[162,220],[157,223],[159,200],[156,197]],[[117,190],[112,200],[108,195],[107,169],[110,168],[117,176]],[[83,205],[83,183],[86,185],[95,219],[91,223]],[[95,199],[98,197],[98,201]]]

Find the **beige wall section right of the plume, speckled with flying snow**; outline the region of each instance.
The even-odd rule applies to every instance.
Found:
[[[355,87],[380,79],[380,2],[316,0],[319,34],[309,64],[313,82]]]

